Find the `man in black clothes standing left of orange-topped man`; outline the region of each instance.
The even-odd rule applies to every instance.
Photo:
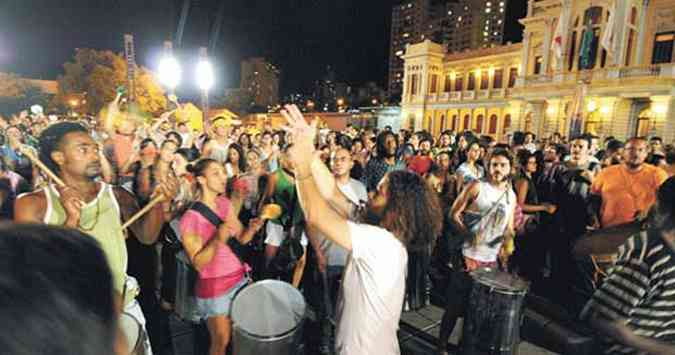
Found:
[[[554,236],[547,243],[554,284],[559,287],[554,295],[560,297],[561,304],[570,306],[575,314],[588,300],[592,290],[592,286],[589,288],[589,285],[580,283],[580,278],[576,277],[575,262],[570,252],[574,241],[595,221],[588,206],[591,204],[591,184],[600,171],[600,164],[591,162],[591,142],[592,137],[588,134],[571,139],[569,159],[560,164],[553,179],[553,196],[559,206],[553,230],[544,234]]]

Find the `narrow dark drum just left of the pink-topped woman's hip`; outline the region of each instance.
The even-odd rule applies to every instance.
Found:
[[[187,322],[198,322],[197,299],[195,284],[197,272],[192,267],[185,252],[176,254],[176,298],[174,311],[176,315]]]

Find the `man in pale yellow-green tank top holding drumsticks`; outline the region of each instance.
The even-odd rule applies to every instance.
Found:
[[[118,311],[134,315],[144,326],[145,319],[135,297],[135,280],[126,275],[128,234],[122,223],[133,216],[138,204],[126,190],[96,178],[101,174],[99,148],[86,128],[72,123],[57,123],[40,136],[40,159],[66,184],[19,196],[14,219],[24,223],[46,223],[79,229],[96,239],[106,256],[113,276],[114,300]],[[161,182],[157,194],[171,201],[176,195],[175,180]],[[141,243],[157,240],[164,220],[164,203],[159,203],[130,229]],[[146,341],[146,349],[150,344]]]

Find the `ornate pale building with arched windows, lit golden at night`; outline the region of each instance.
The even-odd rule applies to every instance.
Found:
[[[520,22],[515,45],[408,46],[403,125],[675,139],[675,0],[530,0]]]

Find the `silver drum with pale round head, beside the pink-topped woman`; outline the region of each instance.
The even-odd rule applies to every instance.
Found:
[[[298,354],[305,309],[300,291],[286,282],[263,280],[244,288],[230,314],[234,353]]]

